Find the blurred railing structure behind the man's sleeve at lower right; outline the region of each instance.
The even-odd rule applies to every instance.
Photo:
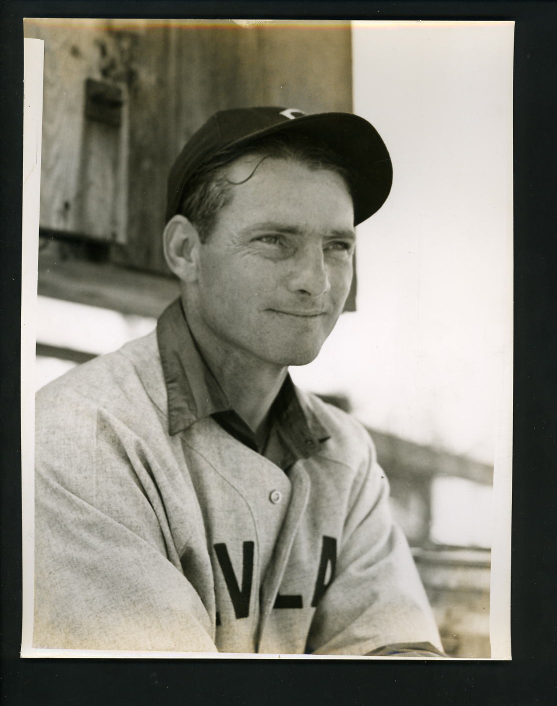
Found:
[[[322,398],[350,411],[346,397],[322,395]],[[391,484],[393,514],[412,547],[446,653],[451,657],[489,657],[491,551],[486,546],[470,546],[470,527],[460,527],[460,546],[452,542],[452,546],[440,544],[431,530],[436,514],[436,481],[465,479],[472,491],[475,486],[480,490],[490,489],[493,468],[393,434],[368,431]],[[459,496],[448,498],[455,505],[448,510],[458,510],[457,506],[465,500]],[[462,522],[462,517],[459,520]],[[470,511],[465,521],[470,525],[479,522],[477,512]],[[457,537],[458,529],[453,528],[453,535]]]

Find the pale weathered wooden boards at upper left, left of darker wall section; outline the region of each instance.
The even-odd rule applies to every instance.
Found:
[[[44,40],[41,225],[123,242],[126,116],[121,126],[85,117],[87,78],[126,91],[123,39],[110,20],[25,20],[25,35]]]

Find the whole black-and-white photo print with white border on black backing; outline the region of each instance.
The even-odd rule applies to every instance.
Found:
[[[513,23],[25,37],[23,656],[510,659]]]

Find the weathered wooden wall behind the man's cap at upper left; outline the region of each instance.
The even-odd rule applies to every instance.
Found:
[[[97,265],[101,252],[112,267],[167,275],[161,232],[169,167],[216,110],[352,109],[348,23],[30,19],[25,35],[45,41],[45,294],[53,278],[63,294],[63,266],[55,276],[54,262],[87,261],[91,252]],[[87,80],[103,95],[87,98]],[[72,241],[92,241],[97,250]]]

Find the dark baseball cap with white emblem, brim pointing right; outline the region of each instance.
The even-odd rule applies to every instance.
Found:
[[[393,183],[391,157],[377,130],[364,118],[352,113],[305,114],[281,107],[236,108],[215,113],[178,155],[169,174],[166,220],[178,213],[188,181],[209,158],[282,133],[319,140],[340,157],[350,172],[355,225],[385,203]]]

